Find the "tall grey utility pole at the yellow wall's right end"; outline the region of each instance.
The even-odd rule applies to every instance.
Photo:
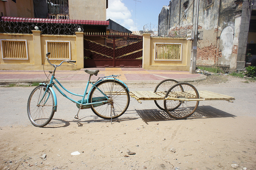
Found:
[[[193,16],[193,31],[192,37],[192,53],[190,60],[190,73],[196,73],[196,50],[197,50],[197,40],[198,40],[198,13],[199,13],[199,0],[194,1],[194,16]]]

